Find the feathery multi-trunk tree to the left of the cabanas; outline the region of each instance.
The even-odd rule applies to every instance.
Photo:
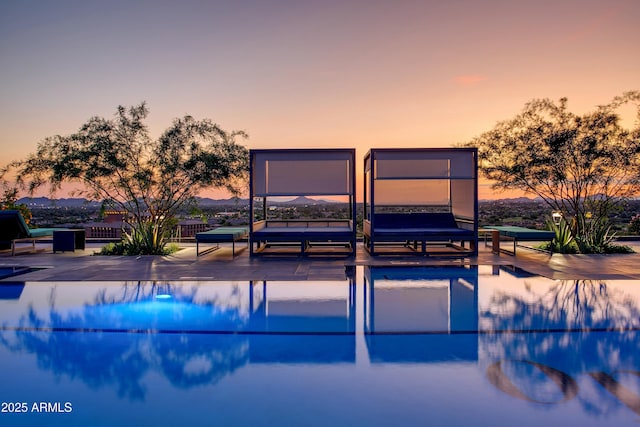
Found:
[[[236,140],[247,135],[187,115],[152,140],[144,124],[148,114],[145,103],[119,106],[112,119],[92,117],[74,134],[44,139],[35,153],[9,169],[30,192],[44,185],[55,192],[64,182],[82,184],[78,195],[129,214],[130,252],[161,253],[169,221],[201,190],[241,192],[248,151]]]

